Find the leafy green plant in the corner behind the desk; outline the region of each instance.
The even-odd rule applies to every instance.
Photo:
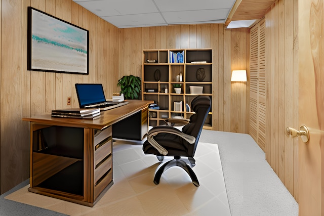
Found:
[[[134,75],[121,77],[117,86],[120,86],[120,94],[124,94],[125,99],[139,99],[141,92],[141,78]]]

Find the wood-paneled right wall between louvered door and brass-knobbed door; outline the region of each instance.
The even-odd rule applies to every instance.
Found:
[[[278,0],[266,16],[266,160],[298,200],[298,0]]]

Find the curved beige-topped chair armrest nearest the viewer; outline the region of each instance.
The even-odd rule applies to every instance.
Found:
[[[160,153],[163,155],[168,154],[168,150],[159,145],[155,140],[154,136],[160,134],[160,133],[167,133],[167,134],[174,134],[182,139],[186,140],[188,143],[193,144],[196,141],[196,138],[187,134],[182,133],[179,131],[179,129],[170,127],[170,126],[157,126],[150,129],[150,131],[147,133],[147,140],[148,142]]]

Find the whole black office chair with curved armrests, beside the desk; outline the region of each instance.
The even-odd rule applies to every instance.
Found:
[[[195,114],[190,116],[188,124],[182,127],[182,131],[172,126],[155,126],[147,134],[147,140],[143,144],[145,154],[154,154],[159,161],[164,156],[173,156],[174,159],[165,162],[155,173],[154,183],[159,184],[164,170],[172,166],[183,168],[190,176],[192,183],[198,187],[199,182],[191,167],[195,165],[193,159],[198,140],[204,122],[211,108],[211,100],[207,96],[197,96],[191,102],[191,110]],[[179,119],[176,119],[178,122]],[[173,123],[170,120],[171,124]],[[184,157],[184,158],[183,158]]]

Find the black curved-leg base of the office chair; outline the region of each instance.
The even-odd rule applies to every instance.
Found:
[[[159,161],[161,161],[161,158],[158,158]],[[163,174],[164,171],[166,171],[167,169],[169,169],[170,167],[173,166],[179,166],[181,168],[183,168],[187,174],[189,175],[189,177],[191,178],[192,184],[196,187],[199,186],[199,182],[197,179],[197,176],[195,175],[194,171],[192,170],[192,168],[190,167],[190,165],[188,165],[188,162],[192,165],[192,167],[195,165],[194,164],[194,159],[193,158],[181,158],[181,157],[174,157],[174,159],[165,162],[163,165],[161,165],[161,167],[159,167],[159,169],[156,171],[155,176],[154,176],[154,184],[158,185],[160,183],[160,178]],[[193,162],[193,163],[192,163]]]

